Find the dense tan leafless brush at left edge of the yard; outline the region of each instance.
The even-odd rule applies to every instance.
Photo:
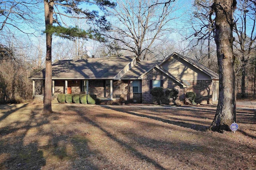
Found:
[[[0,45],[0,103],[23,102],[31,96],[28,65],[19,53],[12,44]]]

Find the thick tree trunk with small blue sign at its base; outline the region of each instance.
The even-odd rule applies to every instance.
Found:
[[[235,0],[214,0],[215,42],[220,75],[218,107],[210,125],[212,131],[230,131],[236,121],[236,82],[233,55],[233,5]]]

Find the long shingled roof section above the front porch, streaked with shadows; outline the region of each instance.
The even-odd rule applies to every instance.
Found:
[[[135,56],[62,60],[52,64],[52,79],[114,78]],[[29,77],[44,79],[45,69]]]

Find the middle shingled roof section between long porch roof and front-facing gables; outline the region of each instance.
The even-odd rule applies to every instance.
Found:
[[[146,71],[148,71],[153,66],[161,63],[162,61],[159,60],[152,60],[152,61],[140,61],[135,64],[126,74],[122,76],[122,80],[127,79],[137,79]]]

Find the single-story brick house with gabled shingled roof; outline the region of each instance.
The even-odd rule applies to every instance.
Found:
[[[29,77],[44,82],[45,70]],[[173,53],[163,61],[140,61],[138,57],[64,60],[52,64],[52,96],[57,94],[96,94],[97,98],[123,98],[152,103],[153,87],[177,88],[180,102],[186,92],[196,93],[197,103],[218,100],[218,74],[202,64]],[[43,92],[43,90],[42,90]]]

